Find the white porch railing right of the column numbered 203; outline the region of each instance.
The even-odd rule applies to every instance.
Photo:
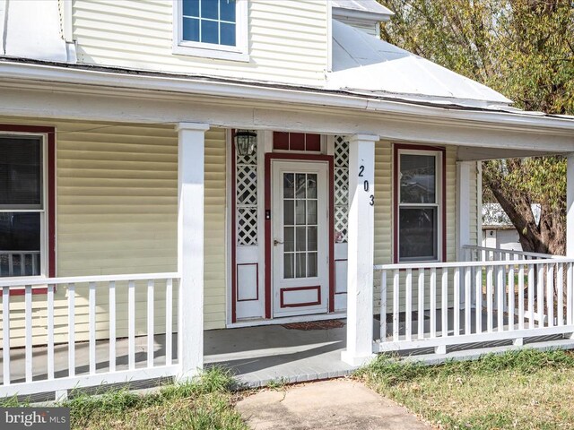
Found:
[[[452,345],[494,340],[520,345],[528,337],[574,332],[574,259],[470,250],[482,254],[479,261],[375,266],[381,315],[375,351],[445,353]],[[499,254],[491,261],[487,252],[509,259]]]

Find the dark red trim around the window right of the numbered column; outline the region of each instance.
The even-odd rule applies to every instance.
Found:
[[[440,170],[441,170],[441,190],[440,190],[440,219],[442,227],[442,235],[439,240],[442,243],[441,255],[439,255],[439,262],[447,261],[447,150],[443,146],[426,146],[426,145],[410,145],[405,143],[395,143],[393,145],[393,262],[399,262],[398,255],[398,152],[399,150],[427,150],[432,152],[441,153]]]

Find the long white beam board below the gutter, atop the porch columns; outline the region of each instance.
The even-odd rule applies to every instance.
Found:
[[[0,65],[0,76],[1,73]],[[172,99],[168,94],[145,90],[130,91],[131,95],[127,97],[119,91],[106,90],[102,94],[101,89],[83,87],[82,94],[75,91],[78,89],[71,91],[70,87],[47,90],[45,83],[38,86],[36,90],[12,84],[2,88],[0,83],[4,101],[0,105],[0,116],[136,124],[174,124],[193,119],[212,126],[295,133],[350,135],[369,131],[381,140],[395,142],[527,149],[537,150],[539,155],[574,151],[574,133],[568,130],[544,132],[544,129],[536,128],[496,128],[455,120],[440,124],[425,121],[423,117],[416,118],[417,126],[413,127],[412,116],[386,115],[384,112],[362,111],[361,115],[349,115],[348,111],[335,107],[311,108],[237,98],[223,101],[202,96]],[[147,102],[143,102],[143,95]],[[571,125],[574,126],[574,121]]]

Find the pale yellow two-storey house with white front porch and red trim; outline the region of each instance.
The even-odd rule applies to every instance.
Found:
[[[374,0],[0,0],[0,394],[194,374],[204,329],[346,316],[354,365],[574,331],[571,304],[556,327],[529,307],[504,328],[504,286],[493,314],[463,255],[481,240],[478,163],[570,154],[571,179],[574,119],[378,39],[391,16]],[[136,366],[162,333],[165,361]]]

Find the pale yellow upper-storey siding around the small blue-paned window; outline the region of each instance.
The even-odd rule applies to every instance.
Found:
[[[167,73],[320,85],[327,64],[324,0],[249,0],[249,61],[172,53],[171,0],[74,0],[78,61]]]

